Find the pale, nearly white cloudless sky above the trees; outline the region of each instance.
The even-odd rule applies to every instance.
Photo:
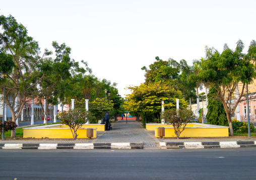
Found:
[[[0,15],[15,17],[41,50],[66,43],[71,58],[92,74],[117,83],[119,94],[145,81],[143,66],[172,58],[205,56],[205,46],[222,52],[241,39],[247,52],[256,40],[256,1],[3,1]],[[3,31],[3,30],[0,30]],[[82,64],[81,64],[82,65]]]

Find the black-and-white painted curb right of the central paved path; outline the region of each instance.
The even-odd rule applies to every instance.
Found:
[[[203,149],[256,147],[256,141],[220,141],[220,142],[159,142],[160,149]]]

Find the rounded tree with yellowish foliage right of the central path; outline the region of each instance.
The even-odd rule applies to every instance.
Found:
[[[132,92],[132,94],[126,95],[127,101],[124,104],[124,108],[128,111],[157,113],[160,117],[162,100],[164,100],[165,109],[172,109],[176,108],[176,99],[179,99],[179,108],[187,108],[187,102],[182,99],[181,91],[161,81],[130,86],[127,89]]]

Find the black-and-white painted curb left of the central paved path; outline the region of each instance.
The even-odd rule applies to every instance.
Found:
[[[5,143],[0,149],[143,149],[143,142],[117,143]]]

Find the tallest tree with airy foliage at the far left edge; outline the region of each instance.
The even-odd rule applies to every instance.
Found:
[[[6,83],[6,100],[12,113],[12,121],[16,121],[22,112],[23,106],[30,101],[30,97],[35,92],[35,87],[43,78],[38,77],[38,61],[49,55],[47,50],[40,57],[38,43],[29,37],[27,29],[17,23],[13,16],[0,17],[0,26],[3,32],[0,33],[0,51],[12,55],[15,68],[8,74]],[[1,88],[3,89],[3,88]],[[18,103],[15,99],[18,98]],[[12,137],[16,136],[12,130]]]

